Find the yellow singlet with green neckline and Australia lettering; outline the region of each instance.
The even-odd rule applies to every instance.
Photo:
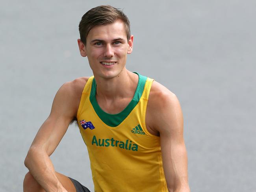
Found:
[[[138,76],[134,98],[119,114],[108,114],[98,105],[94,76],[83,89],[77,120],[95,192],[168,192],[160,137],[150,134],[145,124],[153,79]]]

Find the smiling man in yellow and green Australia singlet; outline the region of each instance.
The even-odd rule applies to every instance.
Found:
[[[25,159],[24,191],[89,191],[59,174],[49,156],[74,119],[96,192],[188,192],[183,118],[176,96],[126,69],[133,35],[126,15],[98,6],[83,15],[78,46],[94,76],[65,83]]]

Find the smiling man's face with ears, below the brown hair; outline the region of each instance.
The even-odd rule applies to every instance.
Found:
[[[96,77],[110,79],[122,73],[127,54],[132,53],[133,36],[127,41],[125,25],[121,20],[95,26],[86,38],[86,45],[78,39],[80,54],[88,57]]]

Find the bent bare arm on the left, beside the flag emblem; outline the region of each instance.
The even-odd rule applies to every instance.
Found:
[[[40,127],[25,159],[25,166],[46,192],[63,191],[65,188],[57,179],[50,155],[67,131],[70,122],[76,116],[79,105],[77,82],[65,83],[57,92],[52,110]]]

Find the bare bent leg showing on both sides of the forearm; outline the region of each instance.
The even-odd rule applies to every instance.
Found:
[[[61,182],[61,184],[65,187],[65,189],[68,192],[76,192],[76,188],[72,181],[69,179],[69,177],[62,175],[58,172],[56,172],[56,175]],[[24,192],[45,192],[45,190],[37,183],[37,181],[34,179],[33,175],[28,172],[25,175],[24,181],[23,181],[23,191]]]

